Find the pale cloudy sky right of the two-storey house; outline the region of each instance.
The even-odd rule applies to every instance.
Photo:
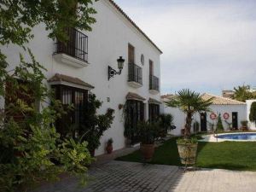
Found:
[[[255,0],[115,0],[164,52],[161,94],[256,86]]]

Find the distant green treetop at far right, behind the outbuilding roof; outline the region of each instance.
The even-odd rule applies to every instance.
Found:
[[[241,85],[238,86],[237,88],[234,87],[234,96],[233,99],[236,99],[237,101],[240,102],[246,102],[248,99],[253,99],[255,96],[253,93],[249,91],[250,86],[249,85]]]

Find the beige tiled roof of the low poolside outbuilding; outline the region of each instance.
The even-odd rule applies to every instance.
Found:
[[[246,105],[246,102],[239,102],[233,99],[224,98],[222,96],[214,96],[209,93],[204,93],[201,95],[204,100],[212,99],[212,105]]]

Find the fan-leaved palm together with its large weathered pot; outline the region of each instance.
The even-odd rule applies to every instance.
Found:
[[[192,117],[195,113],[210,111],[212,98],[203,100],[199,93],[184,89],[179,90],[177,96],[166,102],[169,107],[180,108],[186,114],[184,136],[177,139],[177,149],[181,163],[184,165],[195,165],[197,139],[190,137]]]

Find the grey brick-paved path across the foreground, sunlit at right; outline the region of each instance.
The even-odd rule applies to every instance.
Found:
[[[91,181],[77,188],[75,179],[44,186],[37,192],[255,192],[256,172],[203,169],[186,172],[177,166],[112,160],[90,169]]]

